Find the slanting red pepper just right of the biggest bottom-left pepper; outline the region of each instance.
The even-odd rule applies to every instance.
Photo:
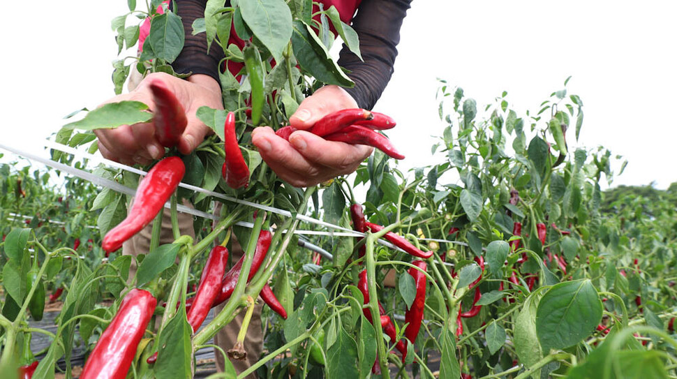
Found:
[[[204,265],[202,276],[200,276],[200,285],[198,292],[193,297],[191,309],[188,310],[188,324],[193,327],[195,333],[207,318],[211,304],[214,303],[216,295],[221,292],[221,280],[225,267],[228,265],[228,248],[216,246],[209,252],[207,264]]]

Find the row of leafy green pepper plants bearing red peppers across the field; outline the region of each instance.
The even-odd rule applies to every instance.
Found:
[[[66,179],[80,182],[68,186],[66,199],[71,200],[66,204],[80,209],[77,225],[96,223],[100,232],[84,258],[71,243],[82,240],[77,233],[86,228],[65,226],[61,232],[66,235],[58,229],[45,235],[38,218],[29,221],[30,228],[3,225],[3,232],[11,230],[2,245],[1,372],[10,378],[18,366],[28,366],[36,378],[53,378],[63,357],[70,378],[73,348],[84,345],[93,351],[82,378],[99,373],[192,377],[195,351],[209,347],[211,337],[240,311],[251,315],[261,294],[277,312],[265,312],[265,355],[239,376],[227,366],[214,377],[243,378],[254,371],[262,378],[675,375],[676,342],[669,334],[675,315],[670,267],[676,239],[669,217],[674,204],[624,198],[611,213],[602,212],[600,181],[611,183],[618,157],[603,148],[567,144],[567,139],[578,139],[583,124],[583,103],[567,94],[567,82],[534,113],[514,110],[505,93],[478,109],[462,89],[442,82],[442,128],[431,149],[435,164],[401,172],[377,150],[351,177],[295,188],[262,161],[251,144],[251,128],[283,128],[302,98],[322,83],[351,85],[329,59],[329,24],[351,49],[359,47],[355,32],[340,22],[334,8],[313,13],[311,1],[260,3],[267,12],[251,2],[223,7],[208,1],[204,19],[193,24],[193,32],[204,34],[211,48],[223,49],[227,61],[245,64],[247,77],[241,84],[228,71],[221,75],[225,110],[198,111],[215,134],[188,156],[168,147],[170,158],[146,168],[151,171],[143,180],[128,171],[96,169],[101,177],[138,186],[137,198],[148,188],[171,195],[172,244],[158,243],[157,218],[149,253],[121,255],[112,241],[119,237],[120,225],[131,223],[128,216],[153,218],[165,200],[134,205],[128,214],[126,195],[107,189],[94,198],[76,195],[87,191],[80,179]],[[118,92],[130,70],[174,74],[169,64],[184,38],[180,18],[160,1],[152,1],[146,13],[135,10],[134,1],[129,4],[130,13],[112,22],[120,50],[137,44],[140,28],[128,26],[130,16],[151,17],[151,26],[140,58],[114,63]],[[276,33],[260,20],[275,25]],[[231,25],[249,41],[244,52],[227,44]],[[271,67],[269,58],[280,64]],[[165,116],[147,112],[141,103],[105,105],[68,124],[56,139],[74,147],[89,144],[94,152],[95,128]],[[225,130],[235,134],[239,151],[233,151],[224,124],[231,124]],[[240,170],[234,172],[247,186],[225,178],[226,169],[243,168],[241,161],[237,166],[231,161],[229,168],[234,154],[246,165],[246,178]],[[52,158],[76,168],[86,163],[59,151]],[[169,191],[163,188],[153,179],[161,170],[174,172],[186,184],[287,213],[228,201],[218,201],[219,209],[205,193],[174,192],[178,181]],[[44,186],[46,179],[38,180],[37,174],[35,179],[31,191],[37,193],[40,180]],[[13,190],[4,191],[13,198],[3,199],[3,205],[26,213],[22,188],[8,180],[3,187]],[[364,198],[359,188],[366,188]],[[181,199],[221,221],[198,218],[195,239],[181,236],[175,222]],[[73,216],[60,211],[66,207],[60,204],[35,206],[41,215],[64,215],[68,225]],[[301,215],[364,237],[304,237],[333,256],[318,259],[297,247],[294,232],[327,230],[302,221]],[[235,225],[238,221],[253,228]],[[231,235],[246,252],[239,262],[228,263]],[[133,261],[138,270],[131,278]],[[393,274],[395,287],[382,285]],[[218,279],[203,286],[210,275]],[[57,279],[64,276],[67,281]],[[199,285],[197,291],[193,284]],[[29,323],[40,318],[45,286],[65,288],[59,295],[63,308],[56,332]],[[198,329],[216,304],[201,302],[203,287],[225,306]],[[112,305],[102,306],[103,300]],[[235,359],[242,354],[248,317],[228,352]],[[34,333],[54,342],[39,363],[30,350]],[[118,354],[107,356],[105,350]]]

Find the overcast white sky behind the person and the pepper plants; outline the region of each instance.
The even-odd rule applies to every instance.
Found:
[[[127,10],[124,0],[36,5],[5,4],[0,59],[1,141],[31,150],[64,115],[113,95],[110,20]],[[585,104],[580,144],[627,158],[614,184],[666,188],[677,181],[676,14],[674,1],[414,0],[375,110],[398,121],[389,135],[406,169],[431,163],[431,135],[442,133],[438,77],[478,107],[505,90],[514,109],[537,111],[572,75]]]

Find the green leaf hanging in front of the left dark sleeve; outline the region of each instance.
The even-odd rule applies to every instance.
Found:
[[[184,38],[184,24],[175,13],[168,12],[151,19],[147,40],[156,57],[172,63],[184,48]]]

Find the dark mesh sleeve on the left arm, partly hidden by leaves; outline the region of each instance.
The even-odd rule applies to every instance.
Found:
[[[207,0],[176,0],[175,12],[181,16],[186,31],[186,43],[179,57],[172,63],[174,71],[181,74],[205,74],[218,81],[218,62],[223,59],[221,47],[213,43],[207,54],[207,38],[204,33],[193,36],[193,21],[204,17]]]

